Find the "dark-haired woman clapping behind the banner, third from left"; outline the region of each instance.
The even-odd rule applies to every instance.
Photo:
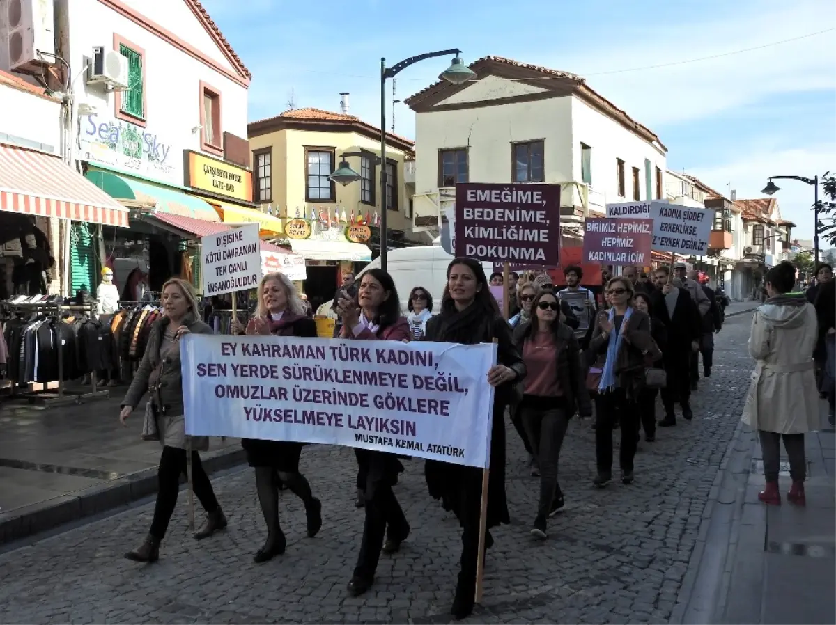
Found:
[[[363,274],[356,302],[351,297],[339,297],[337,313],[343,319],[340,338],[406,343],[412,336],[410,324],[400,314],[395,282],[382,269],[370,269]],[[357,597],[374,583],[380,551],[399,551],[400,543],[409,536],[410,524],[392,490],[398,483],[398,474],[404,470],[398,457],[356,447],[354,455],[365,508],[363,542],[348,585],[349,592]]]

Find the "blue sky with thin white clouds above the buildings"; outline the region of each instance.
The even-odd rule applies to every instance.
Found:
[[[769,175],[836,170],[833,0],[202,3],[252,71],[251,120],[287,109],[292,91],[298,108],[334,111],[348,91],[351,113],[377,125],[381,56],[394,64],[461,48],[466,62],[493,54],[584,76],[660,135],[669,169],[717,191],[735,189],[738,198],[762,197]],[[431,84],[448,63],[438,58],[406,69],[396,97]],[[398,134],[414,137],[410,109],[395,104],[395,119]],[[783,216],[798,224],[796,236],[812,237],[812,187],[779,186]]]

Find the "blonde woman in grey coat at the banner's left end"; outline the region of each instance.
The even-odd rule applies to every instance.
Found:
[[[183,379],[180,365],[180,339],[184,334],[212,334],[212,328],[197,318],[197,300],[191,284],[172,278],[162,289],[163,316],[154,322],[148,347],[130,389],[122,401],[120,421],[125,424],[147,392],[154,407],[162,455],[157,470],[158,490],[148,536],[125,557],[137,562],[154,562],[160,556],[160,543],[177,504],[180,476],[186,475],[186,422],[183,417]],[[197,540],[212,536],[227,526],[215,498],[209,476],[203,470],[198,450],[206,451],[206,437],[192,437],[191,475],[195,495],[208,515],[206,525],[195,534]]]

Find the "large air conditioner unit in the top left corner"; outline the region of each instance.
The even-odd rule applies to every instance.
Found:
[[[0,41],[5,42],[8,67],[16,72],[40,71],[44,63],[52,64],[51,57],[41,58],[38,52],[55,53],[54,0],[7,0],[0,30]]]

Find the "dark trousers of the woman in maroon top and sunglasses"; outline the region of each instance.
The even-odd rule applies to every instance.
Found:
[[[558,483],[558,461],[569,425],[562,398],[526,398],[521,416],[534,457],[540,467],[540,498],[537,516],[545,518],[555,497],[563,496]]]

